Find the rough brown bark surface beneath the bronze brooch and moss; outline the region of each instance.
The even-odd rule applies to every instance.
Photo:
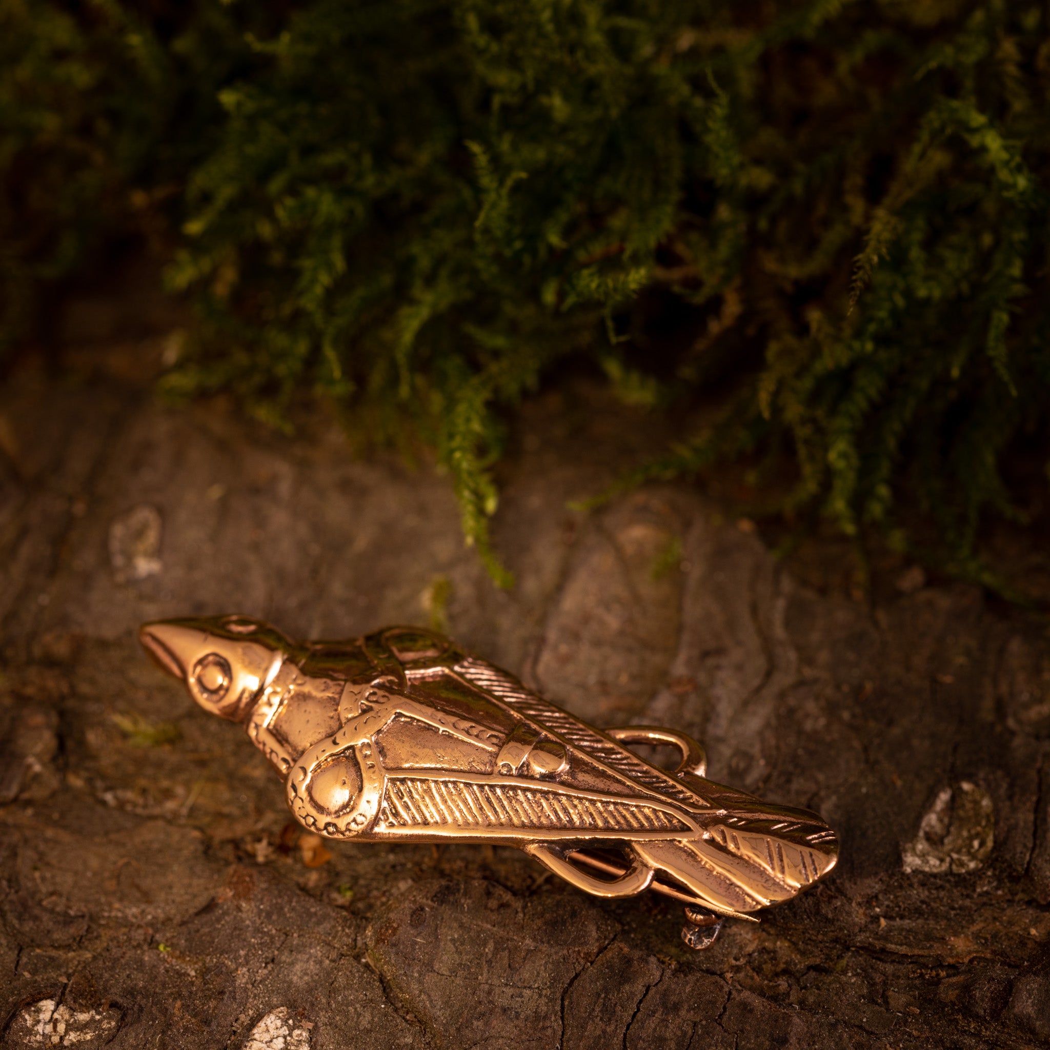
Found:
[[[506,466],[501,593],[429,468],[356,460],[324,419],[293,440],[222,401],[165,407],[164,350],[79,352],[75,382],[30,363],[0,398],[3,1046],[1050,1037],[1042,623],[905,564],[858,598],[836,545],[778,561],[687,486],[567,510],[658,435],[560,398],[526,411]],[[135,640],[220,611],[301,637],[425,623],[439,578],[449,631],[553,699],[680,727],[716,779],[818,808],[837,872],[692,952],[678,906],[591,900],[514,850],[326,859],[239,728]]]

